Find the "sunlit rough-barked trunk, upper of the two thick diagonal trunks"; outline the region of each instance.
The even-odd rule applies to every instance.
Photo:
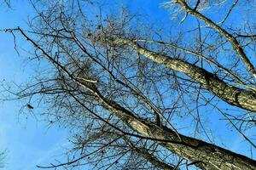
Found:
[[[137,53],[143,54],[148,59],[155,63],[165,65],[174,71],[179,71],[188,77],[191,77],[195,82],[198,82],[202,87],[223,99],[230,105],[236,105],[247,111],[256,111],[256,94],[253,91],[244,90],[230,86],[226,82],[220,80],[211,72],[204,70],[196,65],[191,65],[183,59],[172,59],[163,54],[156,54],[146,48],[142,48],[137,42],[129,39],[117,39],[114,43],[122,43],[130,45]]]

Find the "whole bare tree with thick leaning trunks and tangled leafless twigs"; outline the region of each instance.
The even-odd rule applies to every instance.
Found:
[[[20,85],[15,99],[26,101],[24,111],[44,105],[43,116],[73,134],[67,162],[45,168],[256,168],[253,158],[215,144],[204,122],[214,112],[256,148],[246,133],[255,127],[255,28],[249,19],[228,22],[236,8],[255,10],[252,3],[164,3],[177,17],[171,34],[127,8],[109,12],[92,1],[32,5],[38,16],[31,30],[5,31],[26,38],[32,62],[44,69],[34,83]],[[219,8],[220,22],[207,17]],[[187,31],[172,30],[186,22]]]

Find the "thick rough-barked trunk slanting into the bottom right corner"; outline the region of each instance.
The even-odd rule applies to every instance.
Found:
[[[170,128],[159,126],[154,122],[146,122],[121,105],[104,98],[96,89],[95,94],[98,96],[103,107],[111,111],[115,116],[118,116],[137,133],[142,134],[146,139],[159,141],[167,150],[171,150],[178,156],[191,161],[191,165],[209,170],[256,169],[256,161],[246,156],[241,156],[199,139],[177,134]]]

